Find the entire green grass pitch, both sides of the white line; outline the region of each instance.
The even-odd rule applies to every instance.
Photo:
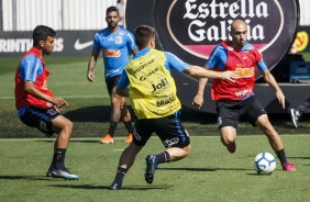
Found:
[[[305,56],[310,60],[310,54]],[[69,105],[63,114],[74,122],[67,167],[78,181],[45,178],[54,138],[24,126],[14,108],[14,72],[20,58],[0,58],[0,201],[310,201],[309,115],[295,128],[289,114],[269,116],[281,134],[288,159],[298,172],[280,170],[258,176],[253,170],[256,154],[274,154],[262,133],[242,121],[237,152],[221,146],[214,114],[182,109],[181,121],[191,135],[192,152],[182,161],[160,165],[153,184],[144,182],[144,158],[163,147],[154,137],[137,156],[122,191],[110,191],[118,158],[126,146],[122,124],[113,145],[98,139],[109,126],[109,97],[98,61],[96,81],[86,79],[87,57],[46,57],[52,71],[49,89]],[[26,137],[26,138],[25,138]]]

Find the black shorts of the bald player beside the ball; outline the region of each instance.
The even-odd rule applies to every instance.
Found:
[[[255,126],[257,119],[266,114],[266,111],[256,97],[252,96],[245,100],[239,101],[217,101],[217,113],[219,128],[224,126],[233,126],[236,128],[241,116],[244,116]]]

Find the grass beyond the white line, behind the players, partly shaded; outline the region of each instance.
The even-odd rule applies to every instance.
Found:
[[[305,55],[310,60],[310,54]],[[41,133],[23,125],[14,106],[14,74],[20,58],[0,58],[0,137],[37,137]],[[57,97],[65,98],[69,105],[62,112],[74,126],[74,137],[99,137],[108,132],[110,100],[102,76],[102,59],[98,60],[95,82],[86,78],[88,57],[46,56],[49,76],[48,88]],[[300,127],[292,126],[289,114],[270,114],[270,121],[280,134],[307,134],[309,115],[302,116]],[[218,135],[214,114],[182,109],[181,120],[192,135]],[[239,135],[261,134],[246,122],[241,122]],[[117,136],[125,136],[123,124],[119,124]]]

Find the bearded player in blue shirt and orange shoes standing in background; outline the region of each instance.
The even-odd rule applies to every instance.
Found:
[[[123,121],[129,132],[125,142],[132,142],[131,114],[126,108],[125,98],[118,96],[115,88],[124,66],[130,61],[130,52],[135,54],[137,47],[132,33],[118,25],[119,20],[119,10],[115,7],[109,7],[106,16],[108,27],[95,35],[92,53],[88,63],[87,78],[92,82],[97,58],[102,50],[106,83],[111,100],[110,128],[108,134],[100,139],[102,144],[113,143],[114,132],[120,121]]]

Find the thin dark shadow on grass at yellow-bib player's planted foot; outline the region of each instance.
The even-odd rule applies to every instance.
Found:
[[[70,188],[70,189],[88,189],[88,190],[110,190],[108,186],[92,186],[92,184],[52,184],[51,187],[56,188]],[[160,189],[168,189],[171,186],[123,186],[122,190],[131,190],[131,191],[141,191],[141,190],[160,190]]]

